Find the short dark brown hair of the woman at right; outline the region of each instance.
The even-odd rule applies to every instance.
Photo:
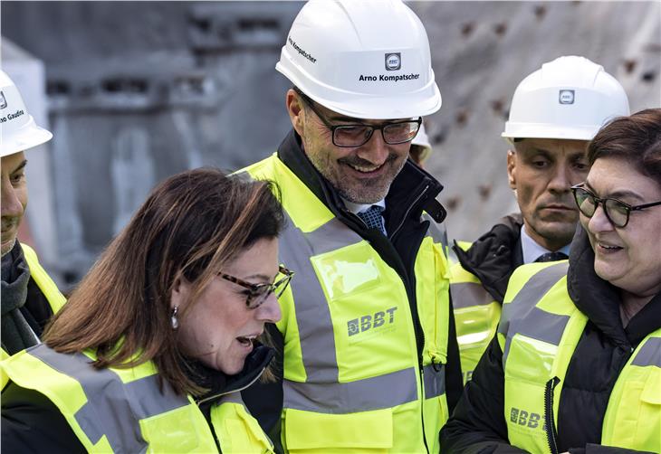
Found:
[[[588,146],[589,165],[599,157],[624,159],[661,184],[661,109],[615,118],[601,128]]]

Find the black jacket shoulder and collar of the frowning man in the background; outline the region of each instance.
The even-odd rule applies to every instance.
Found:
[[[523,264],[522,225],[521,214],[510,214],[474,241],[467,251],[461,249],[456,241],[453,246],[464,270],[480,279],[482,287],[501,304],[510,276]]]

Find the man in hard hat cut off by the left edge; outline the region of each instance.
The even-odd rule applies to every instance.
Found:
[[[39,344],[46,322],[64,304],[34,251],[16,239],[27,204],[24,151],[51,137],[34,123],[14,82],[0,71],[3,357]]]

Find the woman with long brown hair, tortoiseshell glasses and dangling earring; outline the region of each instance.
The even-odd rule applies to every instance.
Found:
[[[241,402],[273,357],[292,273],[273,184],[197,169],[168,178],[46,328],[5,360],[6,452],[264,452]]]

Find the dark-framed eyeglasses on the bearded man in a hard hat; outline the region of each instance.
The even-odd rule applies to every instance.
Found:
[[[331,129],[333,145],[336,147],[360,147],[369,142],[375,130],[381,131],[383,141],[388,145],[398,145],[410,142],[417,136],[417,131],[422,124],[422,117],[414,120],[388,121],[379,126],[376,125],[333,125],[328,118],[315,107],[315,102],[301,91],[296,91],[312,112],[321,119],[326,128]]]

